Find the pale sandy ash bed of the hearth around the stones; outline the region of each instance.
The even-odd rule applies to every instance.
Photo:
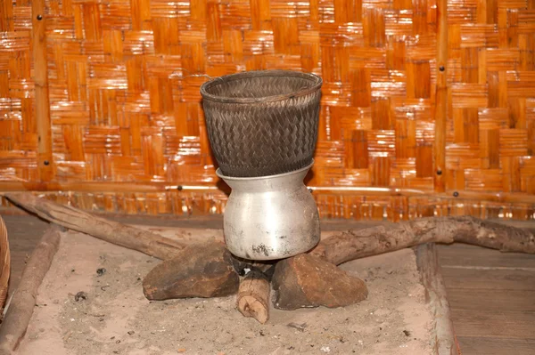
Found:
[[[18,353],[432,354],[432,315],[411,250],[342,265],[366,280],[366,301],[339,309],[272,310],[266,325],[236,311],[235,296],[149,302],[142,279],[159,262],[64,233]],[[78,292],[86,299],[76,301]]]

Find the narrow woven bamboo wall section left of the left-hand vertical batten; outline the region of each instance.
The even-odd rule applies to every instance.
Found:
[[[0,181],[37,181],[31,6],[0,2]]]

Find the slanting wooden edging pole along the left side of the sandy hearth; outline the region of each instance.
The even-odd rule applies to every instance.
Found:
[[[0,355],[15,351],[26,334],[29,319],[36,305],[37,289],[50,269],[59,246],[59,229],[57,226],[49,227],[29,257],[22,272],[21,282],[5,313],[4,322],[0,327]]]

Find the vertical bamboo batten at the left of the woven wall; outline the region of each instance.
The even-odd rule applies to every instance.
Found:
[[[52,123],[46,65],[45,0],[31,2],[34,83],[36,90],[37,164],[41,182],[53,180]]]

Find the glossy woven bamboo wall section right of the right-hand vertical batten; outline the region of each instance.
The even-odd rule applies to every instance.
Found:
[[[534,4],[449,5],[447,162],[452,189],[533,190],[533,172],[521,166],[531,165],[534,154]]]

